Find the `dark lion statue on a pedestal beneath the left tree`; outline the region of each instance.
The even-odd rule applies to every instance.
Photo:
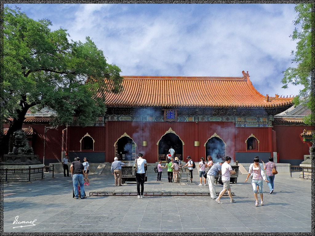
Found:
[[[26,133],[23,130],[18,130],[13,133],[14,146],[9,155],[34,155],[33,148],[29,145]]]

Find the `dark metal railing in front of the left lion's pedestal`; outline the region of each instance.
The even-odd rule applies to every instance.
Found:
[[[51,170],[51,168],[52,168],[52,170]],[[12,170],[13,170],[13,172],[12,172]],[[31,183],[31,174],[42,173],[42,180],[43,180],[44,179],[44,172],[50,172],[50,171],[53,171],[53,177],[52,178],[54,178],[54,164],[53,164],[53,166],[43,166],[43,167],[33,167],[33,168],[31,168],[31,166],[29,166],[28,168],[1,168],[1,174],[5,175],[5,182],[8,182],[8,175],[28,173],[27,183]]]

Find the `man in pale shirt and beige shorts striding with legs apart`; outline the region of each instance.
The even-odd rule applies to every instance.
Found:
[[[230,162],[231,162],[231,157],[227,156],[225,158],[225,162],[222,164],[221,166],[221,173],[222,173],[222,182],[223,182],[223,189],[219,194],[219,197],[217,199],[215,199],[217,201],[217,203],[222,204],[221,202],[221,197],[223,196],[223,194],[225,194],[226,190],[227,193],[229,194],[229,197],[231,199],[231,203],[236,202],[233,198],[232,198],[232,194],[231,194],[231,187],[230,187],[230,177],[231,174],[234,175],[236,173],[236,171],[232,170],[232,167],[230,166]]]

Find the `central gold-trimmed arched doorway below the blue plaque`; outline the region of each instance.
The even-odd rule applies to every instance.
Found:
[[[165,160],[166,154],[172,147],[175,150],[175,157],[177,156],[180,160],[183,160],[183,145],[185,143],[180,139],[180,137],[169,128],[168,131],[161,137],[157,142],[158,159]]]

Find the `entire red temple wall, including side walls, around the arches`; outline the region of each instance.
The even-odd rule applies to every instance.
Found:
[[[259,141],[259,152],[277,151],[279,162],[301,163],[303,155],[309,154],[306,143],[302,143],[300,134],[309,126],[274,126],[273,128],[236,128],[233,122],[128,122],[108,121],[105,127],[77,127],[68,126],[67,151],[80,151],[80,140],[86,133],[95,140],[94,151],[104,152],[105,160],[111,162],[114,159],[114,143],[125,132],[137,144],[136,154],[142,152],[148,162],[156,162],[158,159],[157,142],[169,130],[172,130],[185,143],[183,145],[183,159],[186,161],[190,155],[194,161],[205,157],[204,143],[216,133],[226,143],[226,155],[235,160],[236,152],[246,152],[245,140],[253,134]],[[45,124],[26,124],[35,132],[32,146],[34,154],[43,160],[44,154],[44,129]],[[49,126],[46,124],[46,126]],[[46,132],[45,164],[61,161],[62,130],[49,129]],[[66,140],[66,134],[65,134]],[[142,147],[142,141],[147,141],[147,146]],[[194,147],[194,141],[199,141],[200,146]],[[65,148],[65,145],[64,145]],[[251,151],[247,151],[251,152]]]

